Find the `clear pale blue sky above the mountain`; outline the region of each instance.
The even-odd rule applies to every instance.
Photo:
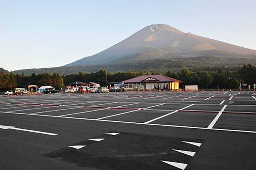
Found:
[[[256,50],[255,0],[0,0],[0,67],[57,67],[151,24]]]

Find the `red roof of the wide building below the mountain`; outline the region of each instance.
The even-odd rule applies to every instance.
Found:
[[[155,79],[155,80],[147,80],[146,79],[151,78],[151,79]],[[128,79],[123,81],[124,83],[145,83],[145,82],[180,82],[182,83],[182,81],[177,80],[177,79],[173,79],[171,77],[167,77],[167,76],[163,76],[160,74],[157,75],[144,75],[144,76],[139,76],[139,77],[135,77],[132,79]]]

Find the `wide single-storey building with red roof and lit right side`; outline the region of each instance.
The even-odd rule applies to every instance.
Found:
[[[125,89],[140,89],[140,90],[152,90],[152,89],[180,89],[180,83],[182,81],[173,79],[171,77],[157,75],[143,75],[128,79],[122,82]]]

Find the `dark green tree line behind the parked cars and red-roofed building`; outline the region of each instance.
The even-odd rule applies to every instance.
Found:
[[[205,71],[208,70],[208,71]],[[108,83],[109,82],[122,82],[134,77],[141,75],[154,75],[154,74],[163,74],[165,76],[178,79],[183,81],[180,85],[181,88],[184,88],[185,85],[198,85],[199,88],[204,89],[216,89],[219,88],[239,88],[240,83],[246,83],[251,85],[256,83],[256,67],[251,64],[244,65],[239,67],[239,69],[232,69],[232,67],[214,67],[211,68],[202,68],[192,70],[187,67],[183,67],[180,71],[171,71],[168,70],[158,70],[150,71],[144,70],[141,72],[116,72],[108,73]],[[85,73],[80,71],[78,74],[65,74],[60,75],[59,73],[54,72],[53,74],[42,73],[32,75],[14,74],[14,73],[4,73],[0,72],[0,90],[10,90],[15,87],[27,87],[28,85],[52,85],[55,88],[59,89],[61,85],[66,85],[72,82],[95,82],[101,86],[106,85],[106,71],[99,70],[93,73]]]

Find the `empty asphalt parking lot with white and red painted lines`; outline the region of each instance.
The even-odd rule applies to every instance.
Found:
[[[255,170],[254,91],[0,96],[1,170]]]

